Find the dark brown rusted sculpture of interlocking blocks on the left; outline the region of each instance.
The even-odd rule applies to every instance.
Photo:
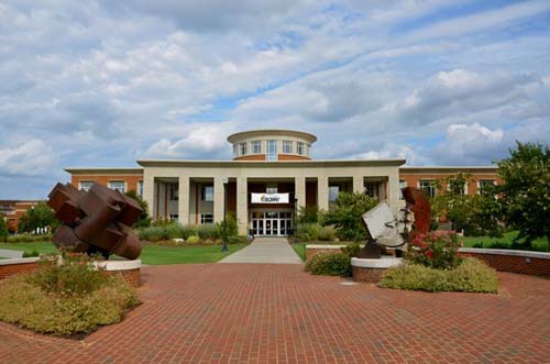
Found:
[[[47,205],[62,222],[53,236],[57,247],[74,252],[111,254],[135,260],[141,244],[132,231],[142,209],[132,198],[94,184],[85,192],[70,184],[57,184]]]

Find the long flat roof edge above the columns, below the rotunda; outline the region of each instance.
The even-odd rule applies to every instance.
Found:
[[[304,167],[307,165],[391,165],[400,166],[405,164],[405,159],[387,158],[387,159],[300,159],[300,161],[199,161],[199,159],[141,159],[136,163],[143,167],[160,167],[160,166],[208,166],[208,167],[268,167],[276,166],[293,166]]]

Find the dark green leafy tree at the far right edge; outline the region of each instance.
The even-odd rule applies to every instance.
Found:
[[[519,230],[517,240],[546,236],[550,245],[550,150],[548,145],[517,142],[510,156],[498,163],[504,184],[497,188],[506,223]]]

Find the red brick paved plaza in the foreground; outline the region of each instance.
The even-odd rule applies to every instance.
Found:
[[[300,265],[144,269],[144,304],[84,341],[0,323],[0,363],[550,362],[550,280],[496,295],[344,286]]]

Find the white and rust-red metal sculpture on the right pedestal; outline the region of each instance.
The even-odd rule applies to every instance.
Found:
[[[405,187],[402,192],[406,206],[397,217],[387,202],[381,202],[363,214],[370,239],[359,257],[380,258],[385,249],[395,249],[396,255],[400,255],[408,241],[430,231],[431,208],[426,195],[413,187]]]

